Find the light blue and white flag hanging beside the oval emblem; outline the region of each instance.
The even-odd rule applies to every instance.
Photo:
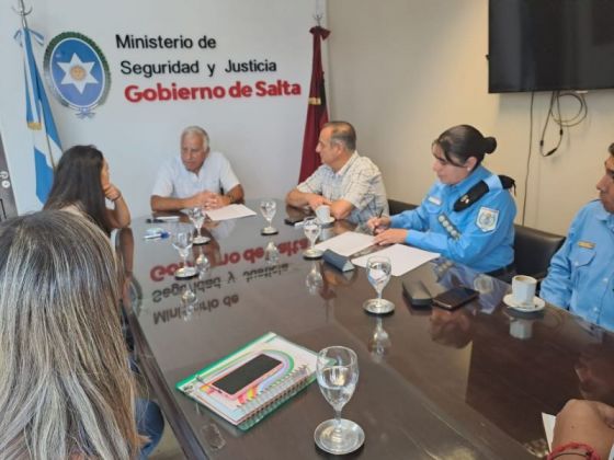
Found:
[[[49,101],[32,51],[32,39],[42,45],[43,37],[27,27],[18,32],[18,36],[24,56],[26,122],[34,139],[36,196],[44,204],[54,181],[54,159],[61,156],[61,147]]]

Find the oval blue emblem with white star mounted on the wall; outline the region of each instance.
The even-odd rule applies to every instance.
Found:
[[[44,58],[45,76],[59,102],[80,118],[93,116],[111,87],[109,64],[89,37],[65,32],[49,42]]]

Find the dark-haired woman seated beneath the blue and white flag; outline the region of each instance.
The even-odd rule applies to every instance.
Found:
[[[92,219],[106,233],[130,223],[130,211],[120,189],[109,180],[109,164],[93,146],[64,152],[54,173],[45,209],[64,209]],[[113,208],[105,205],[113,202]]]

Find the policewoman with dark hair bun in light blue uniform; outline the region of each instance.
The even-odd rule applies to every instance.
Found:
[[[372,218],[378,244],[408,243],[441,253],[480,273],[504,280],[514,274],[513,181],[491,174],[480,163],[497,140],[473,126],[450,128],[432,145],[439,181],[421,205],[391,217]]]

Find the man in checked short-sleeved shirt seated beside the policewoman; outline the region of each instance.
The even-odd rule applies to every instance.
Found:
[[[365,223],[388,215],[386,188],[379,169],[356,152],[356,133],[345,122],[330,122],[320,131],[318,147],[322,165],[286,196],[291,206],[316,209],[330,206],[336,219]]]

